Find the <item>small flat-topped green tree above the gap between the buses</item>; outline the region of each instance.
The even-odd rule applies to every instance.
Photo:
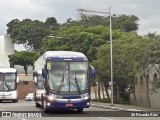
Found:
[[[21,65],[24,68],[25,74],[27,75],[28,66],[33,66],[34,61],[38,58],[36,52],[20,51],[15,52],[12,55],[12,61],[15,65]]]

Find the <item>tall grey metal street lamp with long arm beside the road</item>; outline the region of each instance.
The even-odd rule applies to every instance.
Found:
[[[110,57],[111,57],[111,105],[113,106],[113,53],[112,53],[112,15],[111,15],[111,7],[109,7],[109,12],[102,11],[94,11],[94,10],[86,10],[86,9],[77,9],[77,11],[81,12],[94,12],[94,13],[102,13],[109,15],[109,28],[110,28]]]

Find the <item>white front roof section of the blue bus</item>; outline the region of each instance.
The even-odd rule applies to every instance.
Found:
[[[73,51],[46,51],[43,54],[44,58],[55,58],[55,59],[73,59],[73,60],[85,60],[87,61],[87,57],[80,52]]]

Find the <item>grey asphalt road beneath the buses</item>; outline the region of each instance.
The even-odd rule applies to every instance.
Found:
[[[77,113],[76,110],[44,113],[42,108],[35,107],[34,101],[23,100],[19,100],[18,103],[0,103],[0,114],[0,116],[3,116],[0,117],[0,120],[53,120],[53,117],[54,120],[159,120],[160,118],[131,117],[135,114],[96,107],[84,109],[83,113]],[[9,115],[12,117],[7,117]],[[139,114],[137,113],[136,115]],[[147,114],[144,113],[143,115]]]

